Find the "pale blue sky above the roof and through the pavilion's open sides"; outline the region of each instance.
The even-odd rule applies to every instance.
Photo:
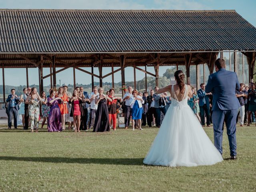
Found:
[[[236,10],[244,19],[256,27],[256,0],[0,0],[2,9],[114,9],[114,10]],[[162,76],[166,68],[160,67],[159,75]],[[84,68],[86,70],[86,68]],[[1,69],[2,70],[2,69]],[[0,84],[2,84],[2,71],[0,70]],[[58,69],[56,69],[58,70]],[[90,69],[87,69],[90,71]],[[103,75],[110,72],[110,68],[104,68]],[[147,68],[154,73],[154,68]],[[25,85],[26,69],[5,69],[6,85]],[[94,72],[98,74],[95,68]],[[49,69],[43,70],[44,75],[49,74]],[[13,75],[15,74],[15,76]],[[136,70],[136,80],[140,80],[145,74]],[[68,77],[68,78],[67,78]],[[133,68],[125,68],[126,81],[132,81]],[[38,69],[28,69],[29,84],[38,83]],[[73,84],[73,69],[64,70],[56,74],[57,84]],[[94,78],[94,81],[98,81]],[[103,82],[111,82],[111,76],[104,78]],[[114,81],[121,81],[120,72],[115,73]],[[91,76],[76,70],[76,83],[90,84]],[[50,84],[50,78],[44,80],[44,85]]]

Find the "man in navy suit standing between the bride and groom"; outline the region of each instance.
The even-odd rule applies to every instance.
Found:
[[[206,124],[207,127],[210,127],[210,103],[209,103],[209,95],[211,95],[211,92],[205,91],[205,84],[200,84],[201,89],[197,91],[197,95],[199,98],[199,108],[200,108],[200,118],[201,118],[201,124],[204,127],[205,126],[205,119],[204,119],[204,113],[206,114]]]

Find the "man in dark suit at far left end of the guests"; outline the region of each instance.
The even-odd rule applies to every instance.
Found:
[[[10,95],[8,95],[8,98],[6,99],[6,102],[9,102],[8,105],[8,129],[12,127],[12,114],[14,118],[14,128],[17,128],[17,116],[18,116],[18,110],[20,109],[18,102],[20,102],[19,97],[15,94],[15,89],[11,90]]]

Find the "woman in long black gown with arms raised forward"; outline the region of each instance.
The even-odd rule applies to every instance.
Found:
[[[107,100],[112,102],[112,99],[103,94],[103,88],[100,87],[98,91],[99,95],[95,100],[98,109],[96,112],[93,132],[110,131]]]

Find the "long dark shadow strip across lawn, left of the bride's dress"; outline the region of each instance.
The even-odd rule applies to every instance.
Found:
[[[12,156],[0,156],[0,160],[46,162],[46,163],[143,165],[143,158],[67,158],[67,157],[12,157]]]

